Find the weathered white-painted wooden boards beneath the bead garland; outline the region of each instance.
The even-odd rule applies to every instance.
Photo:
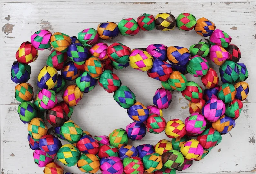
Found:
[[[63,32],[70,36],[77,35],[85,28],[97,28],[98,23],[119,22],[122,18],[137,18],[142,13],[156,15],[172,11],[174,16],[188,12],[197,18],[206,17],[212,20],[217,28],[226,31],[232,37],[232,43],[239,46],[242,54],[240,62],[245,63],[249,71],[250,93],[244,101],[241,116],[236,120],[236,127],[227,135],[223,135],[221,144],[199,162],[179,173],[247,173],[256,171],[256,93],[253,81],[255,79],[255,41],[256,41],[256,3],[251,0],[153,0],[140,2],[138,0],[120,1],[72,1],[72,0],[1,0],[0,2],[0,126],[1,126],[1,169],[2,174],[34,174],[43,173],[43,169],[33,163],[32,153],[27,142],[27,125],[22,124],[17,114],[15,100],[15,84],[10,78],[12,62],[19,45],[30,40],[30,35],[37,30],[47,29],[51,32]],[[178,29],[162,31],[140,31],[134,37],[121,37],[107,41],[121,42],[129,47],[143,48],[149,44],[162,43],[167,46],[189,47],[202,37],[194,31],[182,32]],[[39,51],[37,61],[31,65],[32,74],[29,81],[38,91],[36,79],[39,70],[45,65],[49,51]],[[218,69],[212,62],[210,65]],[[137,101],[151,105],[154,92],[161,83],[148,78],[144,72],[132,68],[115,71],[136,94]],[[189,80],[196,81],[201,86],[200,78],[187,74]],[[75,83],[75,82],[72,82]],[[62,100],[61,95],[58,96]],[[184,120],[189,116],[188,101],[178,92],[172,93],[172,103],[165,109],[164,118]],[[108,135],[115,128],[125,128],[131,122],[126,111],[113,100],[113,94],[105,92],[99,85],[90,93],[85,94],[79,105],[74,107],[72,120],[79,123],[83,130],[92,135]],[[164,133],[154,135],[147,133],[138,144],[156,144],[160,139],[166,139]],[[63,166],[63,165],[62,165]],[[64,166],[63,166],[64,167]],[[65,171],[79,173],[77,167]],[[177,172],[178,173],[178,172]]]

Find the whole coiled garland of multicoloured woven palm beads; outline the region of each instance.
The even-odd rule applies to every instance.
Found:
[[[122,43],[108,46],[100,39],[114,39],[136,35],[140,30],[169,31],[195,30],[208,39],[201,39],[190,48],[181,46],[149,45],[133,49]],[[118,24],[105,22],[97,30],[85,29],[78,36],[64,33],[52,34],[40,30],[31,36],[31,42],[24,42],[16,53],[11,68],[11,80],[17,84],[15,98],[20,120],[28,124],[28,141],[34,150],[34,162],[44,167],[45,174],[64,174],[55,161],[66,166],[77,167],[82,172],[103,174],[175,174],[202,160],[213,147],[221,143],[222,136],[235,127],[235,120],[243,108],[249,85],[244,82],[248,71],[241,58],[239,48],[230,44],[231,37],[206,18],[196,20],[190,13],[181,13],[175,18],[170,13],[159,13],[154,17],[143,14],[137,21],[133,18],[121,20]],[[141,31],[141,32],[143,32]],[[30,79],[29,63],[38,57],[38,50],[53,48],[38,74],[37,93],[27,83]],[[209,67],[211,60],[219,65],[217,72]],[[167,62],[169,61],[169,63]],[[139,71],[147,71],[149,77],[161,81],[151,106],[144,106],[113,69],[120,70],[130,65]],[[60,74],[57,72],[60,71]],[[188,81],[184,74],[200,77],[205,87]],[[220,83],[220,80],[223,82]],[[65,81],[74,84],[64,90],[63,101],[56,93],[64,89]],[[83,95],[92,91],[97,83],[114,100],[127,109],[132,123],[126,129],[117,128],[108,136],[92,136],[72,121],[73,107]],[[172,102],[172,91],[181,91],[189,101],[190,116],[185,121],[165,120],[162,109]],[[33,100],[33,102],[31,102]],[[46,113],[46,115],[45,115]],[[46,119],[45,119],[46,118]],[[47,120],[55,134],[48,131]],[[141,140],[146,132],[165,132],[168,138],[155,146],[150,144],[134,147],[130,141]],[[55,136],[56,135],[56,136]],[[195,137],[195,138],[191,138]],[[172,139],[170,139],[172,138]],[[60,140],[70,144],[62,145]],[[68,174],[67,172],[66,174]]]

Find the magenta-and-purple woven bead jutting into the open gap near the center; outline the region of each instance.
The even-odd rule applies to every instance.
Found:
[[[159,109],[166,109],[172,102],[172,94],[164,88],[158,88],[153,97],[153,103]]]

